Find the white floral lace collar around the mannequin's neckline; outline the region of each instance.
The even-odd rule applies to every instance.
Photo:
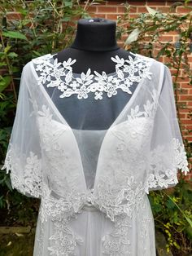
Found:
[[[132,94],[129,87],[133,82],[141,82],[142,77],[151,79],[152,74],[149,72],[151,61],[143,58],[135,60],[131,56],[129,60],[124,60],[116,55],[116,58],[111,57],[111,60],[116,63],[115,75],[108,76],[104,71],[102,74],[94,71],[93,75],[88,68],[86,73],[81,73],[81,77],[73,77],[71,66],[76,60],[68,58],[68,61],[61,63],[56,58],[54,63],[51,63],[52,57],[53,55],[48,54],[32,61],[36,64],[36,71],[40,73],[38,84],[46,84],[47,87],[56,86],[62,92],[62,95],[59,95],[60,98],[77,95],[78,99],[87,99],[89,93],[94,92],[94,99],[103,99],[103,92],[111,97],[117,94],[117,89]],[[126,73],[129,74],[128,77]]]

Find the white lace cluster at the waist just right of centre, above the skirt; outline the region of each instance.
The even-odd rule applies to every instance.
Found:
[[[137,183],[133,176],[124,179],[124,186],[115,186],[109,177],[103,176],[98,180],[98,195],[94,196],[93,204],[105,212],[111,221],[120,214],[127,214],[131,218],[144,196],[142,182]]]

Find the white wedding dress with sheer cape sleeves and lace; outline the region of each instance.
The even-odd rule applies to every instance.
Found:
[[[116,72],[110,74],[88,69],[76,77],[76,60],[58,63],[51,54],[23,68],[2,169],[11,170],[13,188],[41,199],[34,256],[156,255],[147,194],[174,186],[178,169],[189,169],[171,73],[157,60],[133,55],[111,58]],[[132,95],[107,130],[81,129],[88,107],[81,127],[72,129],[46,86],[63,101],[93,97],[99,104],[120,91]]]

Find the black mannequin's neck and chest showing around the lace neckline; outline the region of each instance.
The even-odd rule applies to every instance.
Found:
[[[72,64],[72,72],[76,77],[80,77],[81,73],[86,73],[88,68],[91,69],[91,74],[94,74],[94,70],[98,73],[103,71],[107,74],[115,73],[116,63],[111,60],[111,57],[116,55],[124,60],[129,59],[129,55],[131,55],[134,59],[134,55],[129,51],[124,51],[117,46],[115,21],[93,18],[78,20],[74,42],[68,48],[59,51],[54,57],[57,57],[59,62],[67,61],[68,58],[76,59],[76,62]],[[136,86],[129,88],[132,93]],[[103,93],[102,100],[96,100],[94,96],[77,99],[76,95],[59,98],[56,88],[48,87],[46,90],[61,115],[76,130],[106,130],[132,96],[119,89],[117,95],[111,98]],[[81,125],[81,113],[83,113],[83,117],[86,113],[83,126]]]

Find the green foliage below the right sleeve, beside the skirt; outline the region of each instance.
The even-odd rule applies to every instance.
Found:
[[[192,188],[181,180],[173,189],[150,192],[155,228],[167,237],[173,255],[192,253]]]

